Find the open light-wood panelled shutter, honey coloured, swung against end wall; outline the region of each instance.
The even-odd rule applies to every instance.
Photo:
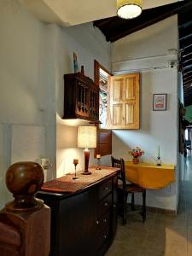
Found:
[[[139,129],[139,73],[111,77],[111,129]]]

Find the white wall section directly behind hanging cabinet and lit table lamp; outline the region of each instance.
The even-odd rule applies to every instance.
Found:
[[[94,60],[110,70],[111,45],[105,41],[102,32],[92,23],[61,28],[55,26],[55,86],[57,112],[57,177],[73,172],[73,159],[79,159],[79,169],[84,168],[84,153],[77,148],[77,126],[89,125],[86,121],[62,120],[64,102],[63,74],[73,73],[73,52],[78,57],[79,71],[84,66],[84,74],[94,79]],[[96,163],[94,150],[90,150],[90,165]],[[102,158],[102,164],[110,163],[109,157]]]

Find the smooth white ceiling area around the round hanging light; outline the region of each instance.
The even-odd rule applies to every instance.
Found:
[[[19,0],[39,20],[73,26],[116,15],[116,0]],[[143,9],[175,3],[174,0],[143,0]]]

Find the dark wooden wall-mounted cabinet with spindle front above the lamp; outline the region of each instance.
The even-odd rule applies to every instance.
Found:
[[[63,119],[99,119],[99,87],[82,73],[64,75]]]

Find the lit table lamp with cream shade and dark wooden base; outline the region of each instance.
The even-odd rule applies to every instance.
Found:
[[[88,148],[96,148],[96,126],[79,126],[78,127],[78,148],[84,149],[84,175],[89,172],[90,150]]]

